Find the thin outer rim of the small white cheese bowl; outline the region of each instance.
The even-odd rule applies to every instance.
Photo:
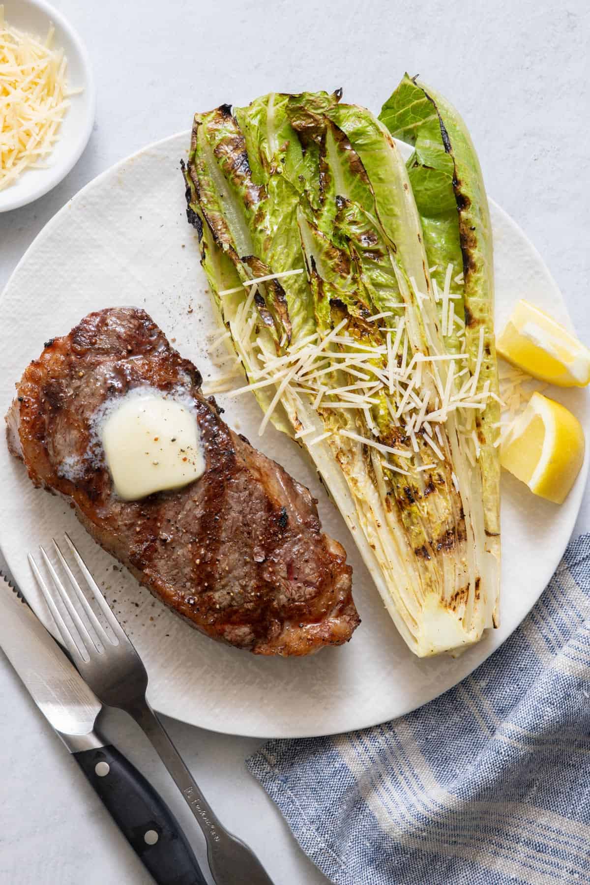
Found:
[[[29,6],[34,6],[37,9],[41,10],[41,12],[43,12],[50,21],[63,28],[63,30],[70,36],[72,42],[75,44],[76,50],[80,54],[85,77],[83,93],[86,107],[85,124],[84,127],[80,130],[77,139],[73,141],[72,149],[68,152],[67,159],[63,160],[54,169],[49,168],[43,170],[44,174],[42,175],[42,177],[39,178],[40,183],[38,188],[35,188],[31,191],[25,191],[25,193],[21,192],[19,194],[18,186],[15,185],[15,190],[13,191],[15,196],[12,200],[10,199],[12,192],[10,188],[6,189],[5,191],[0,191],[0,212],[11,212],[13,209],[20,209],[22,206],[27,206],[29,203],[34,203],[35,200],[40,199],[40,197],[45,196],[45,194],[48,194],[50,190],[53,190],[55,187],[57,187],[59,182],[63,181],[68,173],[72,172],[73,167],[76,165],[82,153],[84,152],[84,149],[88,144],[90,135],[92,135],[92,127],[94,126],[96,117],[96,86],[94,73],[92,71],[92,65],[90,63],[90,57],[88,55],[86,44],[81,39],[78,31],[75,29],[75,27],[73,27],[73,25],[70,24],[68,19],[66,19],[65,16],[56,9],[55,6],[46,3],[45,0],[21,0],[21,3],[27,4]],[[96,179],[94,179],[93,181],[96,181]]]

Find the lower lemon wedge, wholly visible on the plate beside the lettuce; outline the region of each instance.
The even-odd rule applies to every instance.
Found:
[[[534,492],[563,504],[584,461],[584,430],[554,399],[533,393],[502,443],[502,467]]]

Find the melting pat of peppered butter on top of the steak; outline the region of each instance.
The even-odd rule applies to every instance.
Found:
[[[101,436],[115,491],[126,501],[180,489],[204,473],[195,415],[165,396],[122,396]]]

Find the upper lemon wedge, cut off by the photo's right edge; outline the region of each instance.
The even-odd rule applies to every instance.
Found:
[[[528,301],[517,302],[496,350],[540,381],[559,387],[586,387],[590,382],[590,350]]]

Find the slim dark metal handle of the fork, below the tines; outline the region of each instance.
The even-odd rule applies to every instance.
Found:
[[[147,700],[125,709],[148,737],[203,830],[207,859],[216,885],[235,885],[236,882],[272,885],[254,852],[220,823]]]

